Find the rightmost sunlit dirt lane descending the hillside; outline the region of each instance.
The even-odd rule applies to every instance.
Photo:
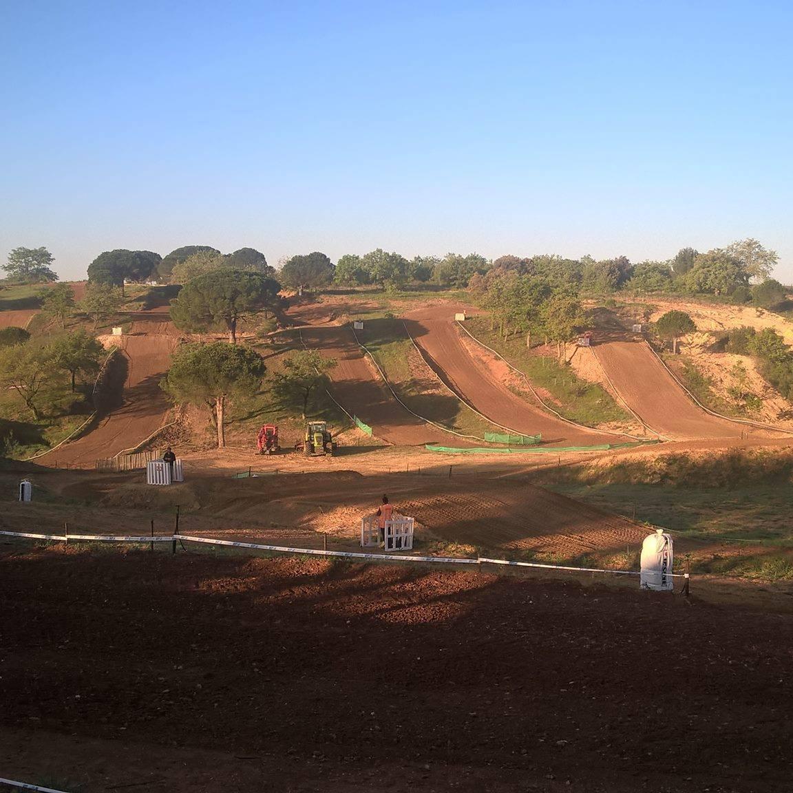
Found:
[[[674,378],[638,341],[596,344],[592,352],[620,397],[654,431],[676,440],[768,435],[753,427],[710,416],[697,407]]]

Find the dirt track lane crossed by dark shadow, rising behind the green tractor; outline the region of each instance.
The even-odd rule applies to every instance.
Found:
[[[373,428],[389,443],[417,446],[441,443],[470,446],[465,439],[439,430],[412,416],[385,387],[374,365],[358,346],[351,328],[334,325],[301,328],[307,347],[320,350],[337,362],[331,370],[331,394],[339,404]]]

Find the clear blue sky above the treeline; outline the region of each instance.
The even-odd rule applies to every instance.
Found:
[[[753,236],[793,282],[791,25],[787,0],[6,0],[0,259]]]

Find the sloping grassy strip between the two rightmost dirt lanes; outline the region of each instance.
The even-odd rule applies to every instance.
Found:
[[[526,339],[522,335],[504,339],[498,331],[490,330],[486,317],[471,317],[465,320],[465,324],[477,339],[523,372],[531,385],[550,393],[556,403],[554,409],[565,419],[588,427],[633,421],[632,416],[620,408],[602,386],[582,380],[570,366],[559,363],[555,358],[534,354],[526,347]]]

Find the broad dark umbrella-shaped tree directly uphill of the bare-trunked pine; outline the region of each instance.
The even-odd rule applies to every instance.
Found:
[[[170,318],[183,331],[224,327],[228,340],[237,343],[239,320],[281,305],[281,285],[272,278],[244,270],[216,270],[182,286],[170,301]]]

